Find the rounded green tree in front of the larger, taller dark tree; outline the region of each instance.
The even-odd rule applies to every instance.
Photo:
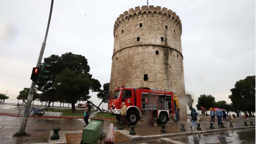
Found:
[[[75,112],[75,103],[81,99],[90,98],[89,90],[93,88],[93,80],[86,73],[76,73],[65,68],[63,72],[54,79],[53,86],[57,92],[57,99],[63,98],[65,102],[71,103],[72,112]]]

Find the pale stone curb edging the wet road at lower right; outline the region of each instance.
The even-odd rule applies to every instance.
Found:
[[[244,129],[244,128],[255,128],[255,126],[247,126],[247,127],[237,127],[237,128],[224,128],[224,129],[214,129],[214,130],[203,130],[203,131],[193,131],[193,132],[183,132],[183,133],[171,133],[171,134],[158,134],[158,135],[130,135],[128,134],[129,131],[127,130],[118,130],[119,132],[124,132],[123,134],[127,136],[130,140],[141,140],[141,139],[151,139],[151,138],[163,138],[163,137],[172,137],[172,136],[184,136],[184,135],[191,135],[191,134],[202,134],[202,133],[212,133],[212,132],[219,132],[219,131],[227,131],[227,130],[237,130],[237,129]],[[127,132],[126,132],[127,131]]]

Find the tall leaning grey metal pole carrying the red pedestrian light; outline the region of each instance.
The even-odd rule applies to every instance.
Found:
[[[41,46],[41,50],[40,50],[40,54],[39,54],[39,57],[38,57],[38,60],[37,60],[36,67],[40,67],[41,62],[42,62],[44,49],[45,49],[45,45],[46,45],[46,39],[47,39],[48,30],[49,30],[50,21],[51,21],[51,16],[52,16],[52,7],[53,7],[53,0],[51,2],[51,8],[50,8],[50,14],[49,14],[49,19],[48,19],[47,29],[46,29],[44,41],[43,41],[42,46]],[[23,113],[21,124],[20,124],[20,128],[19,128],[19,131],[14,136],[27,135],[25,130],[26,130],[27,122],[28,122],[28,116],[29,116],[29,111],[30,111],[31,102],[32,102],[32,99],[33,99],[35,87],[36,87],[36,82],[32,81],[31,86],[30,86],[30,90],[29,90],[29,94],[28,94],[27,103],[26,103],[26,106],[24,108],[24,113]]]

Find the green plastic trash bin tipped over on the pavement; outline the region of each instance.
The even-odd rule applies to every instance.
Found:
[[[100,138],[103,137],[103,119],[93,119],[91,122],[83,129],[81,143],[84,144],[94,144]]]

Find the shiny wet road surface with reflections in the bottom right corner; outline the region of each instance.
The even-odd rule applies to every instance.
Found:
[[[255,144],[255,128],[172,138],[188,144]]]

